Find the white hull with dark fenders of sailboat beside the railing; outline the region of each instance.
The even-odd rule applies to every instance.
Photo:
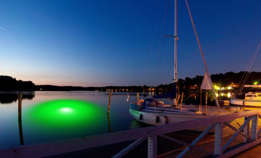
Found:
[[[171,113],[154,113],[154,112],[143,112],[138,110],[129,109],[129,113],[134,117],[135,120],[150,124],[150,125],[165,125],[170,123],[177,123],[183,121],[191,121],[206,117],[212,117],[217,115],[204,115],[204,114],[171,114]],[[140,115],[141,120],[140,120]],[[158,123],[156,117],[158,116]]]

